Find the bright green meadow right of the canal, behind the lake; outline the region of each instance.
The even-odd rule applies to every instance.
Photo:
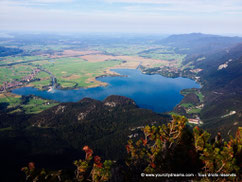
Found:
[[[97,83],[88,81],[95,76],[101,76],[107,68],[120,64],[121,61],[108,60],[102,62],[88,62],[81,58],[61,58],[52,62],[41,61],[34,64],[41,65],[50,71],[57,82],[63,87],[88,87]],[[95,76],[94,76],[95,75]]]

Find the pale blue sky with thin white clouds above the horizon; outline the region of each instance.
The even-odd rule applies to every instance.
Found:
[[[242,0],[0,0],[0,31],[242,35]]]

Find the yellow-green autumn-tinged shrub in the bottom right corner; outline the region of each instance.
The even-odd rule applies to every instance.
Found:
[[[216,174],[241,174],[242,167],[242,128],[239,127],[235,138],[223,142],[220,133],[214,143],[209,143],[210,134],[194,127],[194,146],[203,161],[202,172]],[[220,178],[221,180],[221,178]],[[223,179],[226,181],[226,179]],[[229,178],[233,180],[233,178]],[[221,180],[222,181],[222,180]]]

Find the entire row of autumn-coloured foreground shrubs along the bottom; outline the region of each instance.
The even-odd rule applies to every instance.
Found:
[[[83,148],[85,159],[74,162],[76,170],[72,176],[68,177],[62,170],[38,170],[33,163],[29,163],[22,171],[26,175],[26,181],[102,182],[115,181],[112,175],[120,174],[124,181],[160,181],[161,178],[147,178],[141,174],[165,173],[194,174],[192,178],[170,178],[175,181],[239,181],[242,172],[241,134],[242,128],[239,127],[235,137],[231,137],[229,141],[224,141],[220,133],[211,140],[208,132],[197,126],[191,129],[185,117],[173,116],[172,122],[167,125],[146,126],[143,137],[128,141],[128,156],[123,166],[119,164],[118,172],[112,170],[112,161],[102,163],[99,156],[93,157],[93,151],[88,146]],[[198,174],[203,174],[203,178]],[[211,178],[207,174],[217,176]]]

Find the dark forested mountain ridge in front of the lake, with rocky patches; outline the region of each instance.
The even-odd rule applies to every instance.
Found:
[[[140,127],[170,119],[138,108],[123,96],[109,96],[104,101],[84,98],[76,103],[61,103],[29,118],[4,118],[15,118],[9,125],[5,122],[7,128],[0,131],[1,169],[11,173],[9,176],[19,174],[29,161],[39,167],[72,168],[72,161],[84,155],[84,145],[104,158],[118,160],[126,154],[128,138],[140,132]],[[17,120],[22,128],[15,126]]]

